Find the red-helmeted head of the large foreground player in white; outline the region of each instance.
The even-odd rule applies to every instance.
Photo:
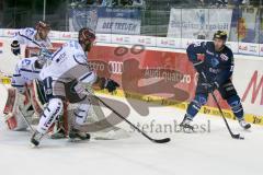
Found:
[[[95,33],[90,28],[81,28],[79,31],[79,44],[84,51],[90,51],[92,44],[95,40]]]

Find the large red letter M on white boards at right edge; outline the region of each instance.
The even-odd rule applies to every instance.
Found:
[[[260,75],[258,70],[254,71],[254,74],[244,91],[242,102],[247,100],[249,93],[251,94],[251,104],[254,104],[255,100],[260,97],[260,105],[263,105],[263,74]]]

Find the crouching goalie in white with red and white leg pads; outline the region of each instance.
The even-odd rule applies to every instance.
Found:
[[[41,49],[39,55],[19,60],[8,90],[8,101],[4,107],[4,120],[10,130],[26,130],[25,119],[32,120],[34,113],[41,113],[42,107],[35,97],[33,80],[37,80],[41,69],[50,58],[52,52]]]

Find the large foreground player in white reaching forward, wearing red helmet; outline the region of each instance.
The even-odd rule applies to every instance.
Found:
[[[108,79],[100,78],[88,66],[88,54],[90,51],[95,34],[89,28],[79,31],[78,40],[66,43],[61,48],[52,56],[52,63],[44,67],[41,71],[41,79],[44,83],[44,90],[48,104],[45,107],[36,131],[31,138],[33,145],[38,145],[41,139],[47,133],[50,126],[59,117],[64,109],[64,100],[66,98],[65,83],[77,80],[79,84],[93,83],[101,89],[107,89],[108,92],[116,90],[118,84]],[[77,91],[78,92],[78,91]],[[82,101],[75,109],[75,122],[83,125],[88,117],[90,108],[90,100],[84,94]],[[90,135],[81,132],[75,128],[70,128],[70,138],[89,139]]]

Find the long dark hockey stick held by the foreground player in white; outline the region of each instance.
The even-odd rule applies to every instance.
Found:
[[[89,93],[89,91],[87,91]],[[90,93],[89,93],[90,94]],[[130,122],[129,120],[127,120],[124,116],[122,116],[119,113],[117,113],[115,109],[113,109],[111,106],[108,106],[104,101],[102,101],[100,97],[98,97],[94,94],[90,94],[93,95],[98,101],[100,101],[105,107],[107,107],[108,109],[111,109],[114,114],[116,114],[119,118],[122,118],[123,120],[125,120],[129,126],[132,126],[134,129],[136,129],[138,132],[140,132],[144,137],[146,137],[147,139],[149,139],[150,141],[155,142],[155,143],[167,143],[169,142],[171,139],[170,138],[164,138],[164,139],[153,139],[151,137],[149,137],[147,133],[145,133],[142,130],[140,130],[138,127],[136,127],[133,122]]]

